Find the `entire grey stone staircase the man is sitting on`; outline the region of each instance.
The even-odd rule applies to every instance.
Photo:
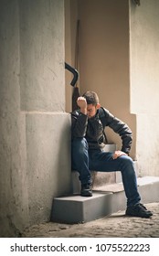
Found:
[[[114,151],[115,145],[107,145],[108,151]],[[143,204],[159,201],[159,177],[139,177],[137,183]],[[51,212],[51,221],[61,223],[81,223],[109,216],[126,208],[126,197],[122,186],[121,172],[92,172],[93,196],[80,197],[78,172],[72,172],[72,195],[55,197]]]

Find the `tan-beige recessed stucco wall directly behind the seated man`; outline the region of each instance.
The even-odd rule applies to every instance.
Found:
[[[96,91],[101,105],[129,124],[133,133],[131,156],[135,159],[136,120],[130,113],[129,2],[79,0],[69,1],[69,5],[71,13],[66,25],[71,23],[71,59],[76,38],[73,26],[80,19],[80,93]],[[67,36],[68,41],[69,33]],[[73,65],[73,61],[71,63]],[[67,99],[69,101],[69,95]],[[119,136],[110,129],[107,133],[109,141],[121,148]]]

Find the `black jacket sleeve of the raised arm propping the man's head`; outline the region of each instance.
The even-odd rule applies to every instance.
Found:
[[[88,116],[81,112],[71,113],[71,135],[72,138],[82,138],[86,135]]]

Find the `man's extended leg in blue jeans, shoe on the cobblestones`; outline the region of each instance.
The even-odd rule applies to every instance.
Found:
[[[153,214],[140,204],[141,197],[137,189],[136,175],[132,158],[122,155],[117,159],[111,153],[92,152],[90,154],[90,168],[101,172],[121,171],[122,183],[127,197],[127,215],[149,218]]]

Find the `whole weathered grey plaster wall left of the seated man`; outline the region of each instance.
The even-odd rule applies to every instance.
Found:
[[[70,189],[64,1],[0,1],[0,236],[48,220]]]

